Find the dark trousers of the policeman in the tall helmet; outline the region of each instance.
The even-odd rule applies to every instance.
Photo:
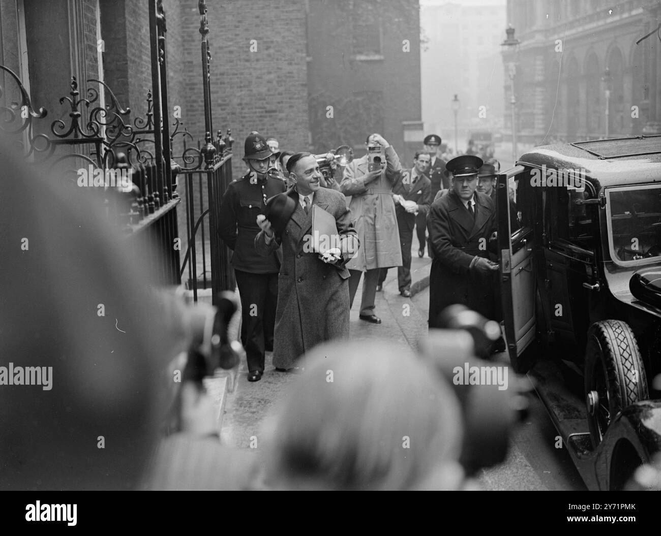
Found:
[[[273,349],[278,304],[278,273],[234,271],[241,295],[241,343],[248,369],[264,371],[265,347]]]

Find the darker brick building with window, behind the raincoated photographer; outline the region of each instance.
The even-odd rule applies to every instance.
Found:
[[[422,146],[418,0],[308,0],[311,149],[365,153],[378,132],[412,165]]]

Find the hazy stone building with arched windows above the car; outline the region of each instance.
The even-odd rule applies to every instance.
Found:
[[[509,0],[507,8],[520,40],[503,52],[506,72],[516,64],[520,142],[661,133],[658,38],[636,44],[661,22],[661,3]],[[506,106],[510,95],[506,76]],[[505,114],[505,138],[511,133]]]

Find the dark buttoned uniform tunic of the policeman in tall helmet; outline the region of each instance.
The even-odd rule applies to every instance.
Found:
[[[254,177],[254,176],[253,176]],[[254,249],[254,237],[260,232],[257,216],[264,213],[266,199],[286,191],[280,179],[262,180],[246,174],[227,186],[220,207],[218,234],[232,251],[235,269],[251,273],[278,273],[281,253],[275,250],[262,257]]]

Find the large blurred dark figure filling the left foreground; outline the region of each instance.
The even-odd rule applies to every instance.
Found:
[[[0,139],[15,178],[3,187],[0,224],[16,244],[1,270],[11,281],[2,365],[49,380],[0,387],[0,488],[135,488],[167,413],[159,378],[185,349],[184,329],[149,287],[144,261],[156,254],[106,216],[103,189],[67,185],[15,152]]]

